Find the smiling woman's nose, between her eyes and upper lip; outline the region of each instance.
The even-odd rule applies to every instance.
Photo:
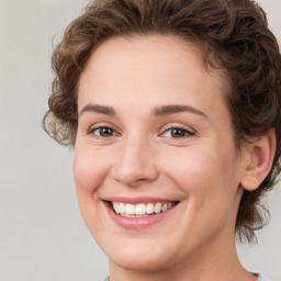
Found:
[[[126,186],[151,182],[158,177],[149,142],[124,140],[113,167],[113,178]]]

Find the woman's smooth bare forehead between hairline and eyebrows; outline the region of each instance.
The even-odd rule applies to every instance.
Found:
[[[115,102],[146,99],[175,104],[192,94],[200,103],[204,94],[223,93],[222,70],[206,71],[202,50],[177,36],[114,37],[101,44],[80,77],[78,106],[89,99]],[[195,104],[194,104],[195,105]]]

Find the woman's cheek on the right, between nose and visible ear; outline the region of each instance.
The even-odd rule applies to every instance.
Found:
[[[169,172],[188,198],[200,204],[220,204],[235,196],[238,175],[235,154],[229,149],[196,147],[170,155],[166,162]],[[168,167],[169,166],[169,167]]]

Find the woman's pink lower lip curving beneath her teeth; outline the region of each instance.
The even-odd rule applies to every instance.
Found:
[[[158,214],[151,214],[151,215],[147,215],[144,217],[126,217],[126,216],[122,216],[116,214],[110,206],[109,203],[104,202],[106,210],[109,212],[109,215],[111,217],[111,220],[119,226],[124,227],[124,228],[130,228],[130,229],[143,229],[146,227],[149,227],[151,225],[155,225],[159,222],[161,222],[167,215],[169,215],[173,209],[177,206],[173,205],[171,209],[158,213]]]

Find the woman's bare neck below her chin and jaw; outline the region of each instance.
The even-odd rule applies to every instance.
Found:
[[[229,235],[225,235],[228,237]],[[110,274],[113,281],[256,281],[257,278],[246,271],[237,257],[235,239],[233,243],[220,237],[211,246],[202,245],[201,250],[189,255],[180,263],[169,268],[144,272],[124,269],[110,261]]]

